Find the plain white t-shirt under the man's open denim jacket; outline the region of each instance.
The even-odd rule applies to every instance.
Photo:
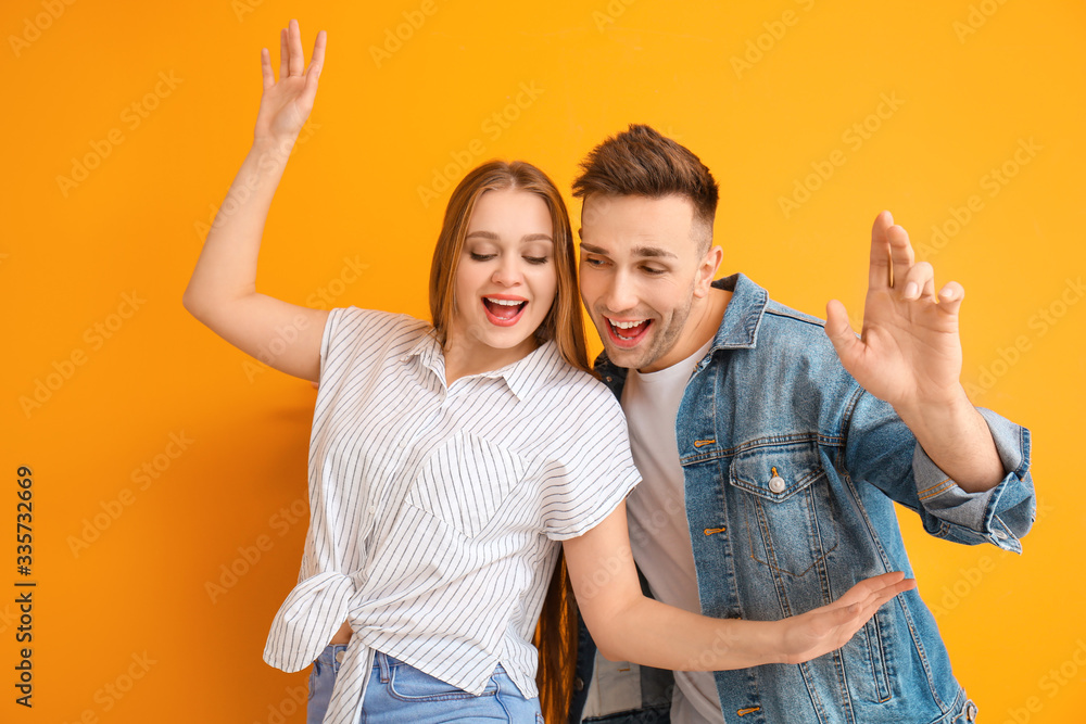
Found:
[[[630,447],[643,478],[627,498],[633,557],[657,600],[694,613],[702,612],[702,604],[675,417],[686,382],[710,346],[712,340],[686,359],[656,372],[631,369],[622,390]],[[674,724],[723,724],[711,671],[677,671],[674,676]]]

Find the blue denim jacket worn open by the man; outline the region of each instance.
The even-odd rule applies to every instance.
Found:
[[[1021,552],[1036,504],[1026,429],[980,410],[1010,472],[990,491],[967,493],[844,370],[821,320],[772,302],[742,275],[715,285],[733,296],[675,424],[703,613],[775,620],[868,576],[911,575],[895,501],[932,535]],[[621,396],[626,370],[603,355],[596,369]],[[591,676],[585,643],[581,682]],[[964,693],[915,590],[834,653],[717,672],[716,681],[725,721],[742,724],[965,721]],[[665,702],[645,703],[660,721]]]

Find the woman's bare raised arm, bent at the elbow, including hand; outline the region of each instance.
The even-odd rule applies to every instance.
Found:
[[[324,30],[317,34],[308,69],[298,21],[280,33],[279,58],[276,82],[268,51],[261,51],[264,93],[253,147],[207,232],[182,302],[243,352],[289,374],[317,380],[328,313],[256,293],[256,257],[276,187],[313,110],[325,59]]]

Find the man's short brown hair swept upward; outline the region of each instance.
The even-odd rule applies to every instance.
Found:
[[[708,251],[720,192],[712,174],[690,149],[655,128],[631,125],[629,130],[592,149],[581,162],[581,169],[583,173],[573,181],[573,195],[579,199],[594,193],[687,199],[694,206],[694,220],[707,229],[703,245]]]

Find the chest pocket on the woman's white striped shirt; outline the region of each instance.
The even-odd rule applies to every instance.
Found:
[[[407,503],[476,537],[498,515],[527,468],[520,455],[483,437],[457,433],[422,461]]]

